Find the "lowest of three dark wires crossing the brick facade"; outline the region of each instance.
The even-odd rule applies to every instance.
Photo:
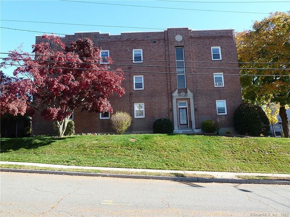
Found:
[[[9,63],[2,63],[3,65],[11,65]],[[14,66],[30,66],[30,67],[41,67],[41,68],[59,68],[59,69],[79,69],[79,70],[90,70],[90,71],[113,71],[118,72],[117,70],[107,70],[107,69],[86,69],[86,68],[69,68],[69,67],[54,67],[54,66],[37,66],[37,65],[21,65],[21,64],[13,64]],[[121,70],[122,72],[134,72],[134,73],[152,73],[152,74],[177,74],[176,72],[154,72],[154,71],[126,71]],[[211,75],[213,76],[213,73],[185,73],[185,74],[192,74],[192,75]],[[229,76],[290,76],[290,75],[267,75],[267,74],[223,74],[223,75],[229,75]]]

